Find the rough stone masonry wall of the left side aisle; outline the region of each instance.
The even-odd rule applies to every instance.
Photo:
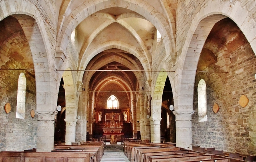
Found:
[[[24,68],[12,58],[1,68]],[[23,72],[26,76],[25,119],[16,118],[18,78]],[[36,109],[35,76],[33,71],[0,71],[0,151],[23,151],[36,148],[37,115],[30,112]],[[11,112],[6,114],[5,104],[11,104]]]

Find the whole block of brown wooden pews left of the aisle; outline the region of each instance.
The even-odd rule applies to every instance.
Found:
[[[54,145],[52,152],[0,152],[0,162],[100,162],[104,143]]]

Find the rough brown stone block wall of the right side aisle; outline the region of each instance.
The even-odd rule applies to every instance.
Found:
[[[256,155],[256,109],[254,102],[256,57],[247,40],[244,36],[241,37],[243,35],[241,31],[233,30],[234,27],[230,29],[232,32],[223,28],[225,33],[229,33],[227,40],[231,41],[227,44],[224,43],[224,47],[222,47],[223,44],[219,44],[218,52],[215,53],[218,62],[224,58],[230,58],[229,64],[224,65],[226,66],[224,69],[228,69],[228,71],[225,73],[223,66],[216,62],[204,67],[205,71],[213,71],[212,73],[198,72],[196,74],[195,114],[192,116],[193,145],[215,147],[217,150],[239,152],[243,155]],[[208,41],[208,39],[204,46],[213,43],[212,40]],[[203,52],[197,68],[207,61],[202,59],[202,55]],[[197,86],[201,79],[205,80],[207,87],[208,120],[205,122],[198,122]],[[238,103],[242,95],[249,99],[248,105],[244,108]],[[220,106],[217,113],[212,111],[215,103]]]

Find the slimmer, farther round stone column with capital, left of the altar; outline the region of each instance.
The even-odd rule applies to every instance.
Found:
[[[66,137],[65,145],[71,145],[71,142],[75,142],[75,127],[78,119],[64,119],[66,121]]]

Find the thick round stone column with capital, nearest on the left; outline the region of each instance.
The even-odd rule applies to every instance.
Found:
[[[54,145],[54,122],[57,111],[37,110],[38,128],[36,138],[37,152],[51,152]]]

